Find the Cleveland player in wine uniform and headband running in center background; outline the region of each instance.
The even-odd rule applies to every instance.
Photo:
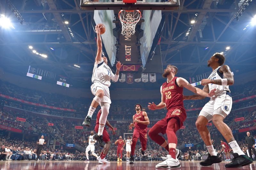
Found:
[[[134,164],[135,158],[134,158],[134,152],[135,147],[138,141],[138,138],[140,138],[141,148],[140,152],[142,154],[142,157],[145,158],[145,150],[147,149],[147,127],[149,125],[149,119],[147,112],[141,111],[142,107],[140,104],[135,105],[136,113],[132,116],[133,123],[130,124],[130,127],[135,127],[132,135],[132,145],[131,145],[131,160],[130,164]]]

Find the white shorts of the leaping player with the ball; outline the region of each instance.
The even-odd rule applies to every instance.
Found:
[[[103,84],[98,83],[98,82],[94,82],[94,83],[91,85],[91,92],[92,92],[92,94],[93,94],[94,96],[96,96],[96,93],[97,93],[98,90],[103,90],[103,92],[104,92],[104,96],[103,96],[101,102],[106,102],[106,103],[111,104],[108,86],[103,85]]]

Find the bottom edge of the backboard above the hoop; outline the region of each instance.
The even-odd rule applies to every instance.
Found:
[[[177,10],[179,0],[137,0],[125,4],[123,0],[81,0],[82,10]]]

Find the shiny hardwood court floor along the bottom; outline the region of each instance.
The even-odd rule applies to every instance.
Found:
[[[136,161],[135,164],[110,161],[111,164],[99,164],[98,161],[0,161],[0,170],[151,170],[161,161]],[[230,161],[222,161],[212,166],[200,166],[200,161],[180,161],[181,167],[175,168],[185,170],[255,170],[256,162],[241,168],[225,168]]]

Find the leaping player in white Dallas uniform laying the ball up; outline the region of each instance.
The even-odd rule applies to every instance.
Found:
[[[95,58],[95,63],[92,73],[92,85],[91,92],[95,96],[92,100],[91,106],[89,108],[88,114],[84,119],[83,125],[90,127],[92,114],[95,109],[100,105],[102,114],[100,115],[100,126],[97,134],[94,135],[94,138],[99,142],[101,147],[104,147],[102,140],[102,132],[106,124],[109,107],[111,104],[109,89],[110,79],[117,81],[119,78],[119,70],[122,67],[121,63],[118,61],[116,63],[116,74],[113,74],[111,69],[108,66],[107,57],[101,57],[102,54],[102,43],[100,37],[100,26],[95,26],[95,32],[97,33],[97,55]]]

